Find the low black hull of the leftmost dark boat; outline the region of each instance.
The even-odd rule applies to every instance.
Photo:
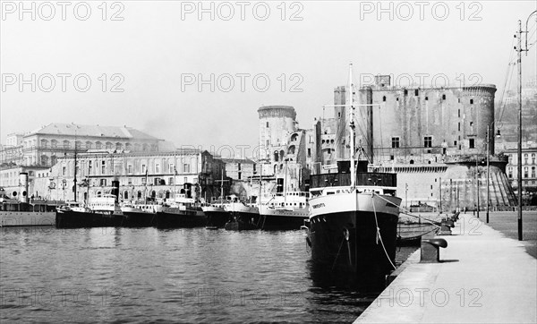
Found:
[[[99,212],[58,211],[55,217],[57,228],[116,227],[122,226],[122,214]]]

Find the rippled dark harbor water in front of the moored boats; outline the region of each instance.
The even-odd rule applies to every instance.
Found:
[[[314,271],[298,230],[0,232],[6,323],[352,322],[377,295]],[[413,251],[398,250],[397,264]]]

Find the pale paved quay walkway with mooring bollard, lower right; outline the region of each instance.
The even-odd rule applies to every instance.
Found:
[[[414,252],[354,323],[537,322],[537,260],[524,244],[470,214],[442,237],[444,262],[418,263]]]

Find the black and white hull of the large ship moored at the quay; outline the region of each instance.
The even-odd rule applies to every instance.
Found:
[[[383,286],[394,269],[400,201],[371,194],[311,200],[311,260],[325,269],[350,273],[368,286]]]

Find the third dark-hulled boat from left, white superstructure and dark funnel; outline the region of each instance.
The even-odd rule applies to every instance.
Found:
[[[157,227],[200,227],[207,224],[200,204],[192,199],[190,183],[184,183],[185,193],[175,193],[173,199],[167,199],[157,212]]]

